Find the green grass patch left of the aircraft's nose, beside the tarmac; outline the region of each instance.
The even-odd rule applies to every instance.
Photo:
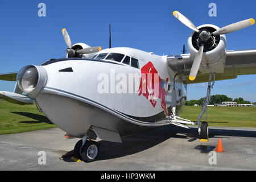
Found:
[[[0,135],[56,127],[35,105],[16,105],[0,101]]]

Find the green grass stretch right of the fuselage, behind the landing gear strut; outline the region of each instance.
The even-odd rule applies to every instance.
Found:
[[[184,106],[180,117],[197,122],[200,107]],[[256,127],[256,107],[208,107],[209,126]]]

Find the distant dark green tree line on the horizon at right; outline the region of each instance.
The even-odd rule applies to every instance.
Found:
[[[195,104],[202,105],[204,99],[205,99],[205,97],[200,98],[200,100],[186,101],[185,105],[187,105],[187,106],[193,106]],[[233,100],[233,98],[225,96],[225,95],[216,94],[214,96],[210,96],[210,105],[221,104],[222,102],[225,102],[225,101],[237,102],[237,104],[256,104],[256,102],[251,103],[250,101],[245,101],[245,100],[243,100],[242,97],[235,98]]]

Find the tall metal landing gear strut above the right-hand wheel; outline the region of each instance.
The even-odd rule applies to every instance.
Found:
[[[207,119],[207,105],[210,104],[210,92],[213,89],[213,85],[215,82],[215,76],[216,73],[213,73],[213,81],[212,81],[212,73],[210,73],[209,76],[209,82],[208,82],[208,88],[207,88],[207,96],[205,97],[204,101],[203,101],[203,105],[201,107],[201,113],[199,114],[199,117],[197,119],[197,125],[198,125],[198,132],[200,134],[201,129],[200,129],[200,122],[201,122],[201,118],[203,117],[203,114],[206,112],[206,119]]]

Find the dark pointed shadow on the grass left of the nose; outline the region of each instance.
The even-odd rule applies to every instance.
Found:
[[[20,121],[20,123],[28,123],[28,124],[49,123],[49,124],[53,125],[53,123],[51,121],[49,121],[49,119],[47,117],[45,117],[44,115],[34,114],[34,113],[25,113],[25,112],[11,112],[11,113],[23,115],[24,117],[28,117],[28,118],[36,120],[36,121]]]

